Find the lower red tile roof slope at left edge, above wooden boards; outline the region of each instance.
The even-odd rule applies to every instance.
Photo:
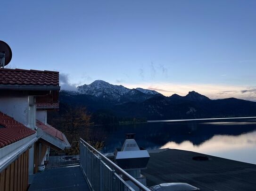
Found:
[[[12,117],[0,112],[0,148],[33,135],[36,131],[27,128]]]

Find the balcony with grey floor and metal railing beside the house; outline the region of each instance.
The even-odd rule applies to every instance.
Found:
[[[83,139],[80,164],[47,169],[35,176],[29,191],[42,190],[150,191]]]

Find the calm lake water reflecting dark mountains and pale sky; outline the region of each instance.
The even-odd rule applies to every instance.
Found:
[[[95,127],[94,127],[95,128]],[[146,149],[174,148],[256,164],[256,118],[98,126],[102,153],[122,147],[125,133]]]

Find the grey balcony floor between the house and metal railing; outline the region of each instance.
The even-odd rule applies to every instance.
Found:
[[[28,191],[90,191],[80,166],[37,173]]]

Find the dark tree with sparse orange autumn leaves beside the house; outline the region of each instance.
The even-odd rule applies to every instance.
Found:
[[[83,138],[90,145],[96,149],[101,149],[104,145],[102,136],[95,131],[93,122],[91,122],[91,115],[88,114],[86,107],[72,107],[67,104],[59,105],[58,112],[50,112],[48,115],[49,123],[62,131],[71,148],[65,150],[66,154],[79,154],[80,138]]]

